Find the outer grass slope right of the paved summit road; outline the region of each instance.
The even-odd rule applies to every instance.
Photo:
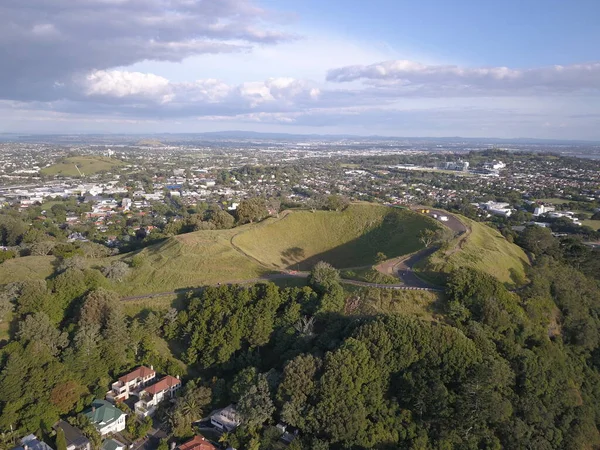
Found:
[[[471,228],[470,234],[464,240],[459,238],[451,243],[449,250],[439,250],[420,263],[417,268],[420,275],[440,283],[439,274],[443,276],[459,267],[472,267],[503,283],[522,284],[526,279],[525,267],[529,265],[525,252],[498,231],[465,217],[460,219]]]

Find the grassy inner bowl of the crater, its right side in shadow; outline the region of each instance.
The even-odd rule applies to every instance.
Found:
[[[318,261],[338,268],[375,263],[422,248],[417,236],[437,223],[408,210],[354,204],[342,212],[294,211],[269,219],[233,238],[240,250],[273,269],[308,270]]]

